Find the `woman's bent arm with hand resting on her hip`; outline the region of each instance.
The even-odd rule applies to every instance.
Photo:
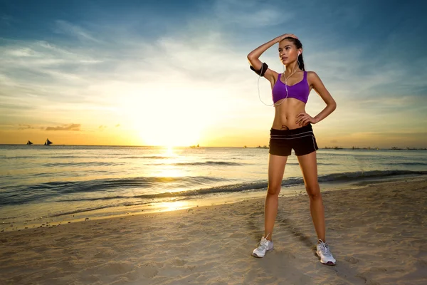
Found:
[[[322,97],[322,99],[325,101],[326,107],[322,110],[322,112],[315,115],[315,118],[312,118],[307,113],[298,114],[296,123],[299,125],[307,125],[308,123],[319,123],[337,108],[337,103],[335,102],[334,98],[332,98],[332,95],[326,89],[325,85],[323,85],[319,76],[317,76],[315,72],[310,71],[307,74],[307,79],[311,83],[310,86],[315,89],[317,94],[319,94],[320,97]]]

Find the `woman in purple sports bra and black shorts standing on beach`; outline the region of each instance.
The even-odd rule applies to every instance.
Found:
[[[277,73],[258,58],[268,48],[279,43],[279,58],[286,71]],[[268,192],[265,198],[265,232],[259,247],[253,250],[254,257],[264,257],[273,249],[273,227],[278,212],[278,196],[283,180],[286,161],[291,149],[297,155],[305,189],[310,197],[310,212],[317,233],[317,255],[322,264],[335,265],[325,241],[325,212],[317,181],[318,150],[312,125],[319,123],[332,113],[337,104],[315,72],[307,72],[302,60],[302,44],[289,33],[278,36],[255,48],[248,54],[251,69],[271,83],[275,117],[270,130],[270,156],[268,160]],[[305,113],[305,103],[314,89],[325,101],[326,107],[315,117]]]

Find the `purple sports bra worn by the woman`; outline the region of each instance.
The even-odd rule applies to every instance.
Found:
[[[282,74],[279,74],[278,81],[276,81],[275,85],[273,86],[272,93],[273,93],[274,103],[276,103],[278,100],[287,98],[285,83],[280,81],[281,75]],[[304,71],[304,78],[302,78],[302,81],[292,86],[288,86],[288,98],[295,98],[304,103],[307,103],[309,93],[310,93],[310,86],[308,86],[308,82],[307,82],[307,71]]]

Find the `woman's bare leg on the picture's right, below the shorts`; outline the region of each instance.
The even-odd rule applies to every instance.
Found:
[[[325,241],[325,209],[323,207],[320,186],[317,181],[317,158],[316,152],[297,157],[300,162],[302,176],[304,177],[305,190],[310,197],[310,212],[315,224],[317,238]]]

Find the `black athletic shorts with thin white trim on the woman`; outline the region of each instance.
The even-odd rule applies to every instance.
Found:
[[[270,130],[271,155],[288,156],[292,148],[295,155],[308,155],[319,149],[311,124],[293,130]]]

